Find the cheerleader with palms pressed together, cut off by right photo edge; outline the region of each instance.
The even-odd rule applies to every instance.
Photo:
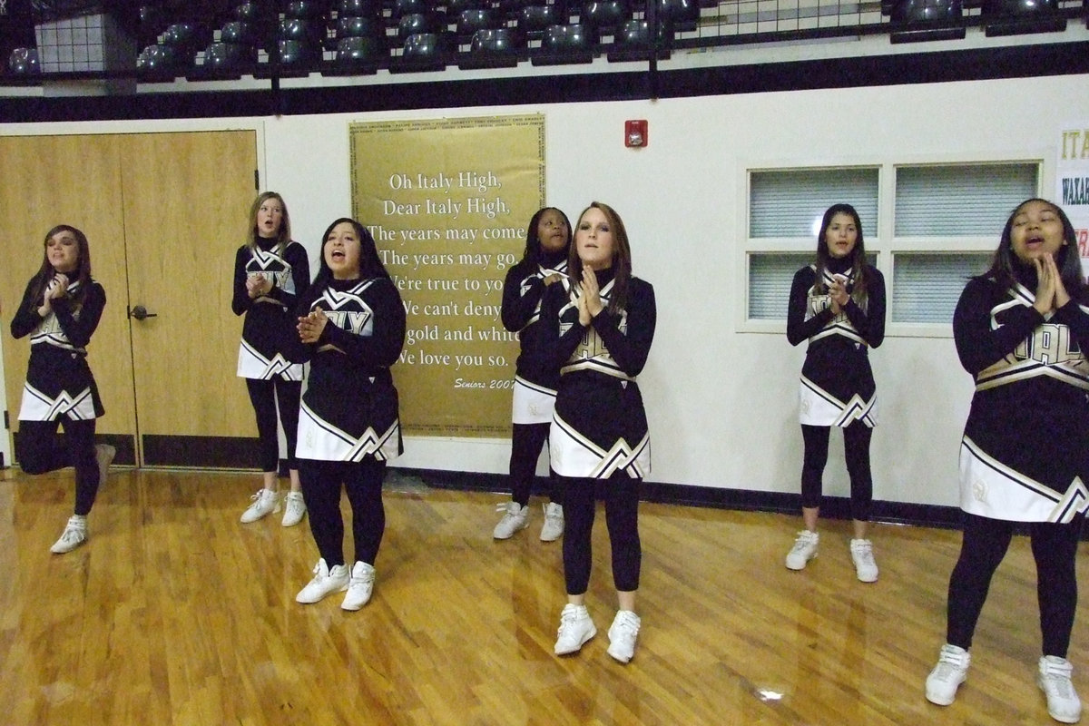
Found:
[[[1026,522],[1037,569],[1042,656],[1037,685],[1055,721],[1081,702],[1066,660],[1077,606],[1075,556],[1089,507],[1089,293],[1074,227],[1043,199],[1006,221],[991,269],[968,281],[953,316],[976,393],[960,441],[960,555],[950,578],[946,642],[927,699],[949,705],[967,677],[991,577]]]

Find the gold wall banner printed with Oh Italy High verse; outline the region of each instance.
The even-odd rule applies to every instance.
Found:
[[[353,123],[352,209],[396,283],[405,433],[505,438],[517,337],[503,278],[544,205],[540,114]]]

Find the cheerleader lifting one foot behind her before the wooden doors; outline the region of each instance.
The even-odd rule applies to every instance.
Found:
[[[87,541],[87,515],[106,481],[113,446],[95,444],[105,414],[87,365],[87,344],[106,307],[106,292],[90,276],[83,232],[59,224],[46,234],[45,259],[30,278],[11,321],[11,334],[30,336],[30,361],[19,410],[19,460],[27,473],[75,467],[75,512],[52,552]],[[64,427],[64,444],[57,429]]]

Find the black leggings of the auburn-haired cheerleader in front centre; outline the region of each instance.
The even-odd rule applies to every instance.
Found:
[[[563,576],[567,594],[584,594],[590,585],[594,489],[599,479],[559,477],[563,491]],[[626,473],[605,480],[605,525],[612,545],[613,585],[621,592],[639,589],[643,545],[639,542],[639,484]]]

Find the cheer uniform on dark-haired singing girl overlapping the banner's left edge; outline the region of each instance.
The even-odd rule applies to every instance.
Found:
[[[326,462],[396,457],[401,427],[390,366],[404,344],[401,296],[386,278],[328,280],[303,296],[298,316],[318,307],[329,322],[321,340],[305,346],[310,372],[295,456]],[[294,360],[301,358],[293,354]]]

